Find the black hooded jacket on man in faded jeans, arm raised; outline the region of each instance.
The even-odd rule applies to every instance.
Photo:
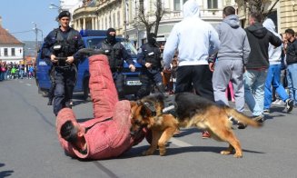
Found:
[[[273,35],[260,23],[245,28],[246,35],[251,46],[251,53],[246,64],[247,69],[261,69],[269,67],[268,46],[269,43],[278,47],[282,40]]]

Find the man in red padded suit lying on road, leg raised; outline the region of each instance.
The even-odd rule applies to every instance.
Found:
[[[92,55],[89,68],[94,119],[77,123],[74,111],[64,108],[56,117],[56,132],[65,152],[73,157],[113,158],[141,142],[145,132],[130,134],[130,102],[118,101],[107,57]]]

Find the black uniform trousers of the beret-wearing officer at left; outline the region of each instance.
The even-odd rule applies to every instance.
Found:
[[[57,115],[72,98],[76,82],[75,66],[54,66],[54,82],[54,114]]]

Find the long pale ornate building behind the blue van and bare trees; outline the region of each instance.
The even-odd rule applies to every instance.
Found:
[[[173,25],[183,19],[183,4],[186,0],[162,0],[165,14],[158,29],[158,41],[166,41]],[[223,7],[235,5],[234,0],[202,0],[200,5],[201,18],[213,26],[222,21]],[[72,25],[74,29],[106,30],[114,27],[117,35],[128,37],[136,46],[146,40],[146,29],[138,17],[139,6],[150,21],[154,19],[156,0],[96,0],[84,3],[73,10]],[[90,5],[91,4],[91,5]],[[152,29],[153,30],[153,29]]]

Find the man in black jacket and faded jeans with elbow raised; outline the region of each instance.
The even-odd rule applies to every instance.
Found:
[[[245,29],[251,46],[246,71],[244,73],[244,99],[252,111],[253,119],[264,122],[264,87],[269,67],[269,43],[278,47],[282,40],[262,26],[262,15],[252,13],[250,26]]]

